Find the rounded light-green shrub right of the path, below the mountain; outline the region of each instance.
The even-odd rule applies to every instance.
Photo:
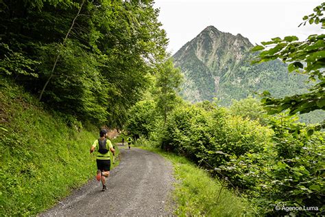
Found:
[[[206,111],[201,106],[177,109],[165,132],[165,144],[172,150],[210,167],[225,165],[230,157],[258,152],[268,144],[272,130],[231,116],[226,109]]]

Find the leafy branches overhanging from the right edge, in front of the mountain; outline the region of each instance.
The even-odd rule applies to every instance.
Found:
[[[324,12],[325,3],[317,6],[314,13],[304,16],[310,24],[321,24],[325,28]],[[302,25],[302,24],[300,24]],[[286,96],[285,98],[273,98],[268,91],[263,95],[263,104],[269,113],[280,113],[289,109],[289,115],[295,113],[309,113],[317,109],[325,110],[325,34],[313,34],[305,41],[298,41],[296,36],[285,38],[272,38],[272,41],[262,42],[256,45],[252,51],[261,52],[253,63],[266,62],[280,59],[287,62],[289,72],[304,73],[309,80],[315,82],[308,93]],[[271,46],[271,49],[267,47]]]

